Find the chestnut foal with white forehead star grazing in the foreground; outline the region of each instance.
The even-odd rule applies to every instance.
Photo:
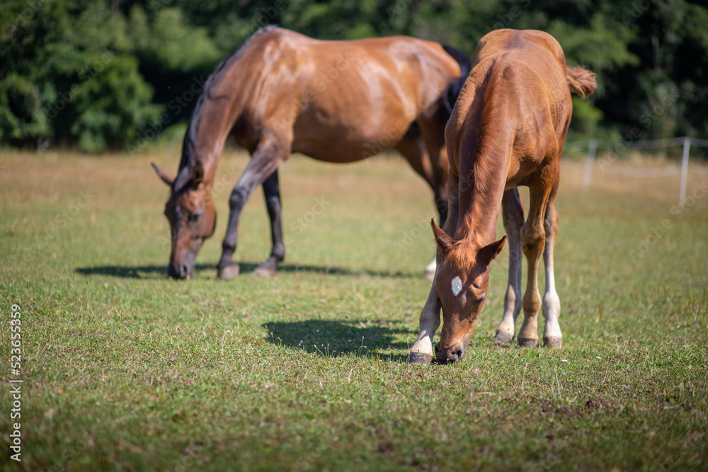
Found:
[[[450,207],[440,229],[438,267],[421,312],[420,334],[411,364],[433,358],[433,335],[439,362],[462,360],[489,288],[489,265],[506,236],[496,241],[496,222],[503,205],[509,238],[509,283],[505,315],[496,339],[508,343],[523,305],[518,343],[537,343],[537,313],[543,308],[544,345],[561,347],[560,302],[554,285],[553,246],[558,231],[554,199],[560,159],[571,121],[570,91],[583,98],[595,91],[595,76],[582,67],[567,67],[560,45],[541,31],[496,30],[477,45],[472,73],[459,94],[445,128],[450,175]],[[519,185],[530,192],[524,223]],[[528,263],[526,292],[521,298],[521,251]],[[546,292],[537,288],[539,258],[546,266]]]

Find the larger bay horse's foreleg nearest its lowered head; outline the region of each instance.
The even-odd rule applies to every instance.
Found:
[[[251,162],[246,166],[246,170],[234,186],[229,198],[229,207],[231,207],[229,226],[222,243],[222,257],[217,266],[219,279],[229,280],[239,275],[239,264],[234,263],[232,258],[234,251],[236,251],[241,211],[249,200],[253,189],[263,184],[288,154],[290,154],[290,149],[287,146],[273,140],[261,142],[253,152]]]

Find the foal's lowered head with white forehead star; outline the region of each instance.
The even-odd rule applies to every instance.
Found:
[[[435,346],[438,361],[459,362],[467,353],[469,338],[486,301],[489,289],[489,266],[506,243],[506,236],[487,246],[474,241],[453,240],[435,221],[435,242],[442,253],[435,272],[435,293],[442,305],[440,343]]]

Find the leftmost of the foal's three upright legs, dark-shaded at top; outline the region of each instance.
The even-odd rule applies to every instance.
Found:
[[[504,297],[504,316],[496,328],[496,342],[510,343],[514,338],[516,318],[521,311],[521,226],[524,207],[517,189],[507,190],[501,200],[504,229],[509,239],[509,278]]]

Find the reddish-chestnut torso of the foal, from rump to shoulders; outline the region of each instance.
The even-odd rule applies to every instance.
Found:
[[[447,124],[450,166],[464,167],[457,161],[465,149],[474,154],[490,142],[513,146],[510,175],[524,163],[535,166],[557,154],[571,111],[558,42],[541,31],[493,31],[476,48],[472,73]]]

